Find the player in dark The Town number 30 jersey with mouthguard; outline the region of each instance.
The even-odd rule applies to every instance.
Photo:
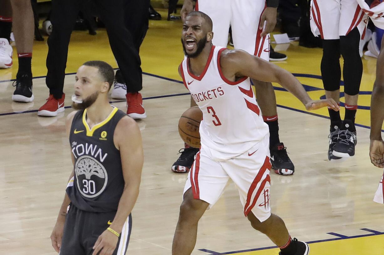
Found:
[[[113,79],[103,61],[86,62],[76,74],[78,111],[66,120],[74,169],[51,235],[60,255],[125,254],[128,247],[143,150],[136,122],[109,105]]]

